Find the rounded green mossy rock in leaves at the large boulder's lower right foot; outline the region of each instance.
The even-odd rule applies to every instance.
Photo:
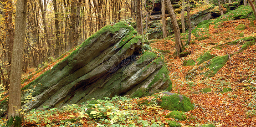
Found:
[[[159,106],[170,111],[188,112],[194,109],[188,97],[177,93],[163,92],[164,96],[160,97]]]

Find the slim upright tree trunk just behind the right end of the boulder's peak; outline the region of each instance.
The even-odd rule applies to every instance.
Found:
[[[141,20],[141,5],[140,0],[136,0],[136,23],[137,23],[137,32],[139,35],[142,35],[142,20]]]

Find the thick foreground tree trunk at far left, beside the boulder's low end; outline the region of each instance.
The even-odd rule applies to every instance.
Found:
[[[20,102],[20,83],[22,72],[22,54],[24,50],[25,34],[26,34],[26,5],[27,0],[17,0],[16,18],[15,18],[15,37],[12,53],[12,66],[10,75],[10,91],[9,91],[9,110],[8,118],[21,117],[16,110],[21,109]]]

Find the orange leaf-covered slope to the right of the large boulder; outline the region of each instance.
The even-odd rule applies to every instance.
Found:
[[[246,25],[246,29],[236,30],[236,26],[241,23]],[[224,44],[235,41],[241,38],[238,36],[241,32],[245,33],[245,37],[255,36],[256,27],[249,27],[249,24],[249,20],[243,19],[225,21],[221,27],[216,29],[210,25],[209,34],[211,36],[208,39],[198,41],[195,36],[192,36],[195,44],[186,47],[191,51],[191,55],[183,58],[165,56],[169,66],[169,77],[173,84],[172,92],[188,96],[195,104],[195,109],[188,112],[197,117],[195,121],[202,124],[215,122],[217,127],[256,127],[256,45],[232,56],[225,66],[209,79],[201,80],[202,77],[198,75],[193,81],[187,81],[185,75],[193,66],[182,66],[184,60],[196,60],[208,50],[213,50],[211,54],[217,56],[238,51],[241,46],[226,46],[224,49],[218,50],[212,48],[215,45],[209,43]],[[165,41],[168,43],[164,43]],[[175,42],[171,40],[160,40],[151,44],[153,48],[171,51],[170,54],[174,54],[174,45]],[[248,60],[251,59],[254,61],[249,62]],[[250,83],[247,80],[254,82]],[[189,85],[191,82],[192,86]],[[223,86],[230,87],[232,91],[218,92]],[[194,93],[194,91],[207,87],[212,88],[212,91]],[[181,123],[190,123],[191,125],[193,121],[182,121]]]

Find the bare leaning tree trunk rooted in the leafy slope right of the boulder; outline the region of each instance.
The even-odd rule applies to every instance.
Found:
[[[177,56],[179,56],[179,54],[182,51],[184,51],[184,46],[183,46],[183,43],[181,41],[180,32],[179,32],[179,25],[178,25],[178,22],[177,22],[177,19],[176,19],[171,1],[170,0],[165,0],[165,6],[168,10],[168,13],[170,15],[172,25],[173,25],[173,28],[174,28],[175,48],[176,48]]]

